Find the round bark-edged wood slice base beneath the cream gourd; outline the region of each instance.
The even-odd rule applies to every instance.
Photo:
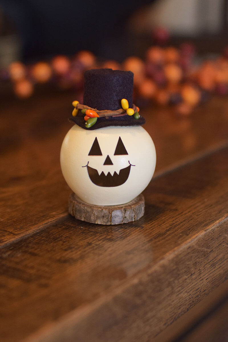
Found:
[[[69,213],[76,219],[97,224],[121,224],[139,220],[144,215],[145,200],[140,194],[118,206],[95,206],[82,201],[74,193],[69,197]]]

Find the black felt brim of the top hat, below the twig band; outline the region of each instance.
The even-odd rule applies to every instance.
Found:
[[[94,126],[90,128],[85,127],[85,120],[84,116],[78,115],[78,116],[71,116],[69,118],[70,122],[76,123],[78,126],[86,129],[86,130],[94,130],[98,128],[108,127],[108,126],[142,126],[146,120],[140,116],[140,118],[137,120],[132,116],[124,115],[119,117],[106,117],[106,118],[98,118],[97,122],[94,124]]]

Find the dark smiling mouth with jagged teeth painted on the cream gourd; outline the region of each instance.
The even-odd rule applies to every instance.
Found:
[[[129,162],[129,164],[130,164],[130,162]],[[122,185],[126,182],[126,180],[128,179],[132,165],[130,164],[126,168],[121,169],[119,171],[119,174],[116,173],[116,171],[115,171],[113,176],[111,175],[110,172],[108,172],[108,174],[105,176],[103,171],[99,175],[99,173],[96,169],[91,168],[90,166],[88,166],[88,164],[86,166],[87,166],[89,178],[92,181],[92,183],[94,183],[95,185],[98,185],[98,186],[113,187],[113,186]]]

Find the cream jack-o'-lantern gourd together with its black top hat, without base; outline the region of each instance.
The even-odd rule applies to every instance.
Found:
[[[141,127],[145,120],[132,104],[132,91],[131,71],[85,72],[83,105],[73,102],[70,121],[75,124],[60,153],[62,174],[82,203],[118,209],[141,194],[152,179],[155,146]]]

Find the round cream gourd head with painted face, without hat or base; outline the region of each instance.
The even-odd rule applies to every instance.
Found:
[[[145,189],[154,173],[156,152],[141,126],[85,130],[75,125],[62,143],[60,162],[78,197],[111,206],[127,203]]]

